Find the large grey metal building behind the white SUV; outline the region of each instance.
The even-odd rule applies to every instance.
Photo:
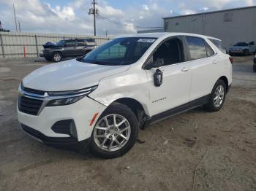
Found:
[[[214,36],[229,49],[236,42],[256,41],[256,6],[165,17],[164,28],[165,32]]]

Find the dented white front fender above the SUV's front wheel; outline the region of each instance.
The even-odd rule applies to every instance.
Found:
[[[146,82],[145,71],[141,70],[133,74],[127,71],[101,79],[98,88],[89,96],[105,106],[109,106],[120,98],[132,98],[140,102],[146,114],[149,115],[148,102],[150,101],[150,92]]]

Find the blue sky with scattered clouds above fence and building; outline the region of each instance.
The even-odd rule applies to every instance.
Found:
[[[97,3],[101,17],[97,18],[97,34],[108,31],[110,35],[118,35],[162,26],[162,17],[252,6],[256,0],[97,0]],[[91,0],[0,0],[2,27],[15,31],[12,4],[22,31],[93,34],[93,17],[87,14]]]

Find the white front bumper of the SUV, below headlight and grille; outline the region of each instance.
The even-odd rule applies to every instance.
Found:
[[[18,109],[18,121],[26,133],[46,144],[53,144],[54,142],[58,144],[59,140],[72,144],[91,137],[97,119],[90,124],[91,120],[97,113],[97,117],[99,117],[105,108],[106,106],[86,96],[67,106],[46,106],[39,115],[26,114]],[[73,120],[75,122],[77,138],[53,131],[53,125],[61,120]]]

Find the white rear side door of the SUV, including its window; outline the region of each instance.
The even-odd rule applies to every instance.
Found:
[[[217,81],[219,61],[205,39],[186,36],[189,67],[192,70],[190,101],[211,93]]]

